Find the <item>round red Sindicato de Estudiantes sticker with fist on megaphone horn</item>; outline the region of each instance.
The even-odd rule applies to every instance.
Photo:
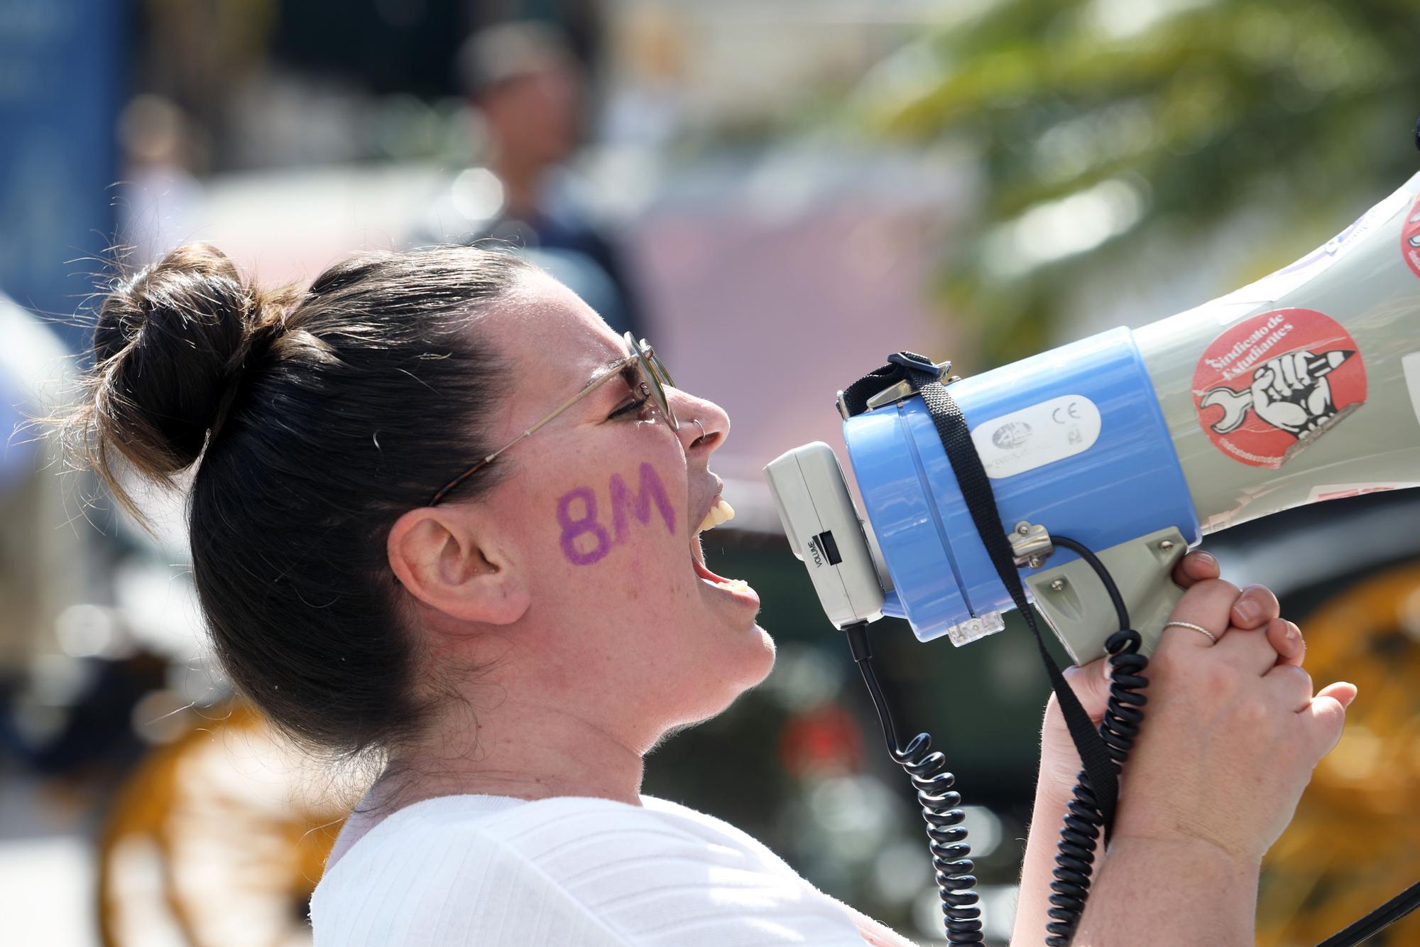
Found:
[[[1252,466],[1281,466],[1365,402],[1360,347],[1340,323],[1311,309],[1277,309],[1230,326],[1193,373],[1204,434]]]

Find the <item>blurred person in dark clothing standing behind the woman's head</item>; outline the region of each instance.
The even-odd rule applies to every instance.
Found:
[[[548,24],[503,23],[474,33],[459,78],[483,121],[487,166],[459,175],[415,243],[493,237],[532,252],[616,331],[645,333],[638,291],[616,243],[564,166],[582,141],[586,81]]]

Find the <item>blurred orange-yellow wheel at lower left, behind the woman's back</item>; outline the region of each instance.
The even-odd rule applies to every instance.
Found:
[[[251,708],[224,701],[131,774],[99,835],[104,947],[301,947],[351,805]]]

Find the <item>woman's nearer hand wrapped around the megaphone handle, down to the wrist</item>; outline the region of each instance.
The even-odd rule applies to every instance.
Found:
[[[1267,634],[1237,626],[1247,596],[1204,579],[1149,661],[1149,708],[1120,778],[1116,845],[1210,845],[1255,869],[1292,819],[1312,769],[1340,739],[1350,684],[1312,694],[1301,631],[1272,617]],[[1281,647],[1278,647],[1281,644]]]

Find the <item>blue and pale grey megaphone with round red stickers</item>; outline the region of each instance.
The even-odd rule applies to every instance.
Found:
[[[1172,567],[1206,533],[1420,486],[1420,175],[1291,266],[1143,328],[967,378],[905,357],[947,384],[1072,660],[1103,654],[1115,611],[1052,533],[1108,567],[1147,653],[1181,596]],[[1000,631],[1012,599],[932,411],[883,381],[858,404],[839,392],[865,515],[822,442],[772,461],[770,489],[835,626],[886,614],[967,644]]]

